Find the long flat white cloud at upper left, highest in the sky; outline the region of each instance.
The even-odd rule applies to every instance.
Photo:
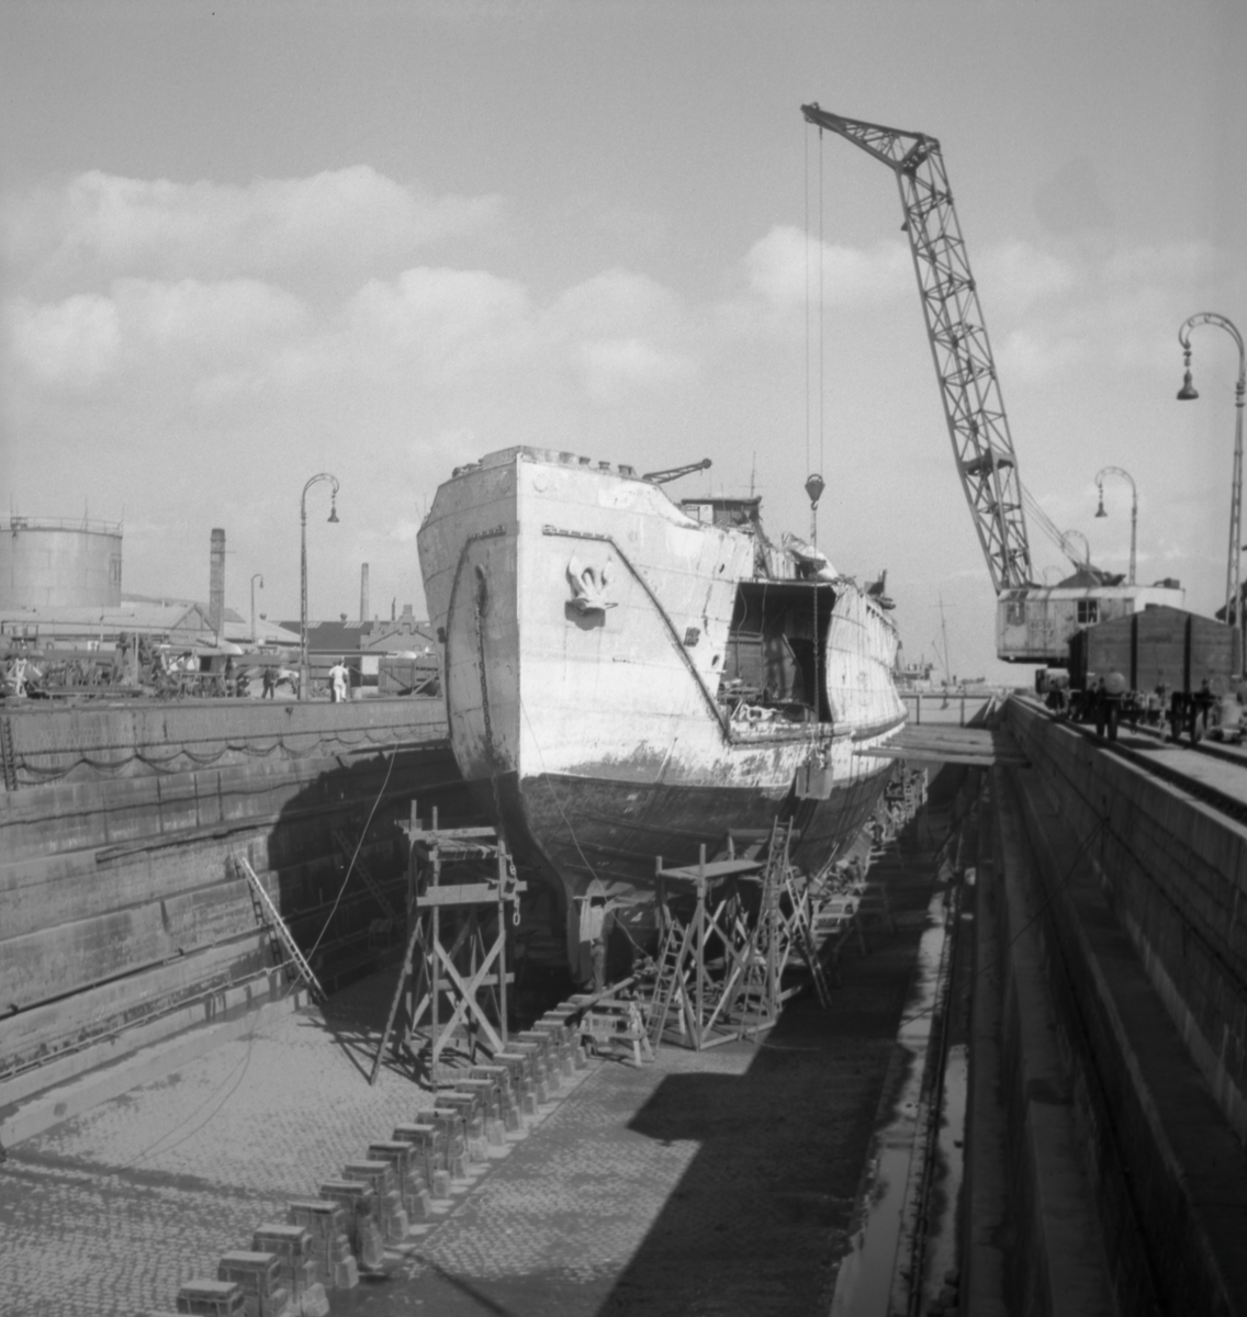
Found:
[[[479,234],[496,196],[428,196],[367,165],[309,178],[175,183],[91,170],[0,205],[0,250],[45,278],[142,273],[263,275],[329,262],[392,262],[438,238]]]

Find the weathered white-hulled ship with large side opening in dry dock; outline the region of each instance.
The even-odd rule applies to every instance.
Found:
[[[776,545],[758,499],[508,448],[441,485],[417,544],[456,760],[565,896],[644,909],[656,856],[776,819],[816,869],[870,818],[905,722],[890,605]]]

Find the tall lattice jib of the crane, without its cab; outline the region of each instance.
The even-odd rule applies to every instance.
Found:
[[[802,105],[807,122],[886,165],[905,209],[944,417],[995,593],[1032,583],[1022,482],[965,240],[940,144],[926,133],[843,119]]]

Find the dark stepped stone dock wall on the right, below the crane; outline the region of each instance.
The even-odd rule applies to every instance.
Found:
[[[1031,766],[986,797],[970,1310],[1247,1312],[1242,830],[1024,702],[1005,718]]]

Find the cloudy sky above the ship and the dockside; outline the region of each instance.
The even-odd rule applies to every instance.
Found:
[[[942,142],[1023,483],[1092,560],[1225,598],[1247,327],[1236,3],[0,3],[0,500],[124,522],[124,586],[423,615],[415,535],[514,444],[764,498],[888,570],[905,657],[1027,680],[890,171]],[[1036,574],[1068,564],[1034,523]]]

